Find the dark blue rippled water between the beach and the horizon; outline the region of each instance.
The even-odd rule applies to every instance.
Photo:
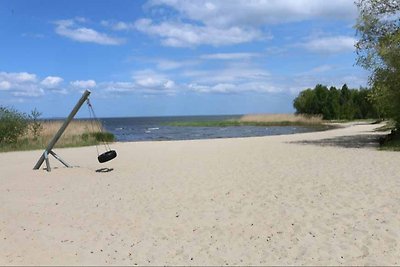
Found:
[[[125,117],[100,120],[105,129],[113,133],[116,141],[120,142],[268,136],[321,130],[304,126],[183,127],[169,125],[172,122],[222,121],[240,117],[241,115]]]

